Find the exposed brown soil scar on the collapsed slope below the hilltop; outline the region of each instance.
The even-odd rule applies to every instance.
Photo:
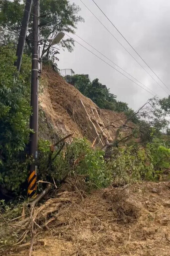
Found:
[[[100,141],[96,142],[104,144],[105,138],[113,141],[117,127],[126,120],[123,113],[100,109],[50,67],[43,69],[42,83],[40,105],[60,136],[74,133],[75,137],[86,136],[93,141],[102,131]],[[104,128],[111,122],[112,126]],[[132,123],[128,125],[133,126]],[[123,130],[126,134],[130,131],[131,128]]]

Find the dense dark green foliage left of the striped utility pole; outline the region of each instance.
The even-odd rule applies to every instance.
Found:
[[[26,178],[28,160],[23,150],[28,142],[31,113],[30,60],[23,57],[18,77],[14,60],[11,45],[0,46],[0,184],[11,190]]]

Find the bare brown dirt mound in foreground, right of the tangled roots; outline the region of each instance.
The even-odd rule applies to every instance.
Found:
[[[170,255],[170,182],[75,198],[73,193],[47,231],[37,234],[43,245],[34,247],[34,256]]]

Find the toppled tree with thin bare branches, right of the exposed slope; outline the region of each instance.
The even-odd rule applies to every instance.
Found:
[[[165,101],[165,99],[164,99]],[[104,136],[104,130],[113,126],[116,128],[116,133],[112,141],[108,141],[107,137],[103,137],[106,141],[103,146],[103,150],[106,152],[109,148],[118,147],[120,142],[126,143],[132,138],[140,136],[141,143],[147,143],[152,140],[151,133],[154,131],[155,135],[161,135],[168,127],[170,121],[167,119],[168,111],[162,106],[162,101],[156,97],[149,99],[143,106],[141,106],[136,112],[133,112],[128,118],[119,118],[118,120],[124,120],[124,123],[120,126],[116,126],[114,123],[118,120],[109,122],[98,135],[99,138]],[[132,123],[135,119],[136,123]],[[122,131],[127,129],[127,133],[123,136]],[[97,137],[93,141],[93,145],[96,143]]]

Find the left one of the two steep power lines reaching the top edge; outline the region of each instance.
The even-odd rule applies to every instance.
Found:
[[[113,35],[113,33],[100,21],[100,19],[89,9],[89,7],[80,0],[83,5],[92,13],[92,15],[101,23],[101,25],[115,38],[115,40],[133,57],[133,59],[153,78],[153,80],[169,95],[169,93],[164,89],[163,86],[141,65],[141,63],[125,48],[125,46]]]

